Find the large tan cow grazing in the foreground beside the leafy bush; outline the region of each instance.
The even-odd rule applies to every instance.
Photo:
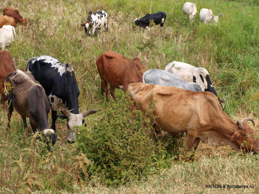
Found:
[[[131,84],[138,87],[141,83]],[[137,92],[137,91],[136,91]],[[235,151],[259,151],[259,140],[246,122],[233,121],[220,108],[218,100],[211,92],[193,92],[177,87],[149,85],[136,95],[138,110],[146,112],[149,103],[157,100],[154,116],[156,124],[172,135],[187,133],[185,151],[197,148],[200,140],[208,145],[230,145]],[[152,138],[153,133],[150,133]],[[246,141],[247,144],[243,144]]]

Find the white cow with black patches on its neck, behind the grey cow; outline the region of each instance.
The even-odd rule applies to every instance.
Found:
[[[209,72],[202,67],[197,68],[187,63],[173,61],[172,63],[169,63],[165,67],[165,71],[176,74],[180,78],[186,81],[195,82],[199,84],[203,92],[208,91],[213,93],[215,96],[218,95],[216,90],[212,86]],[[224,108],[224,100],[220,100],[218,98],[218,101],[222,102],[223,108]]]

